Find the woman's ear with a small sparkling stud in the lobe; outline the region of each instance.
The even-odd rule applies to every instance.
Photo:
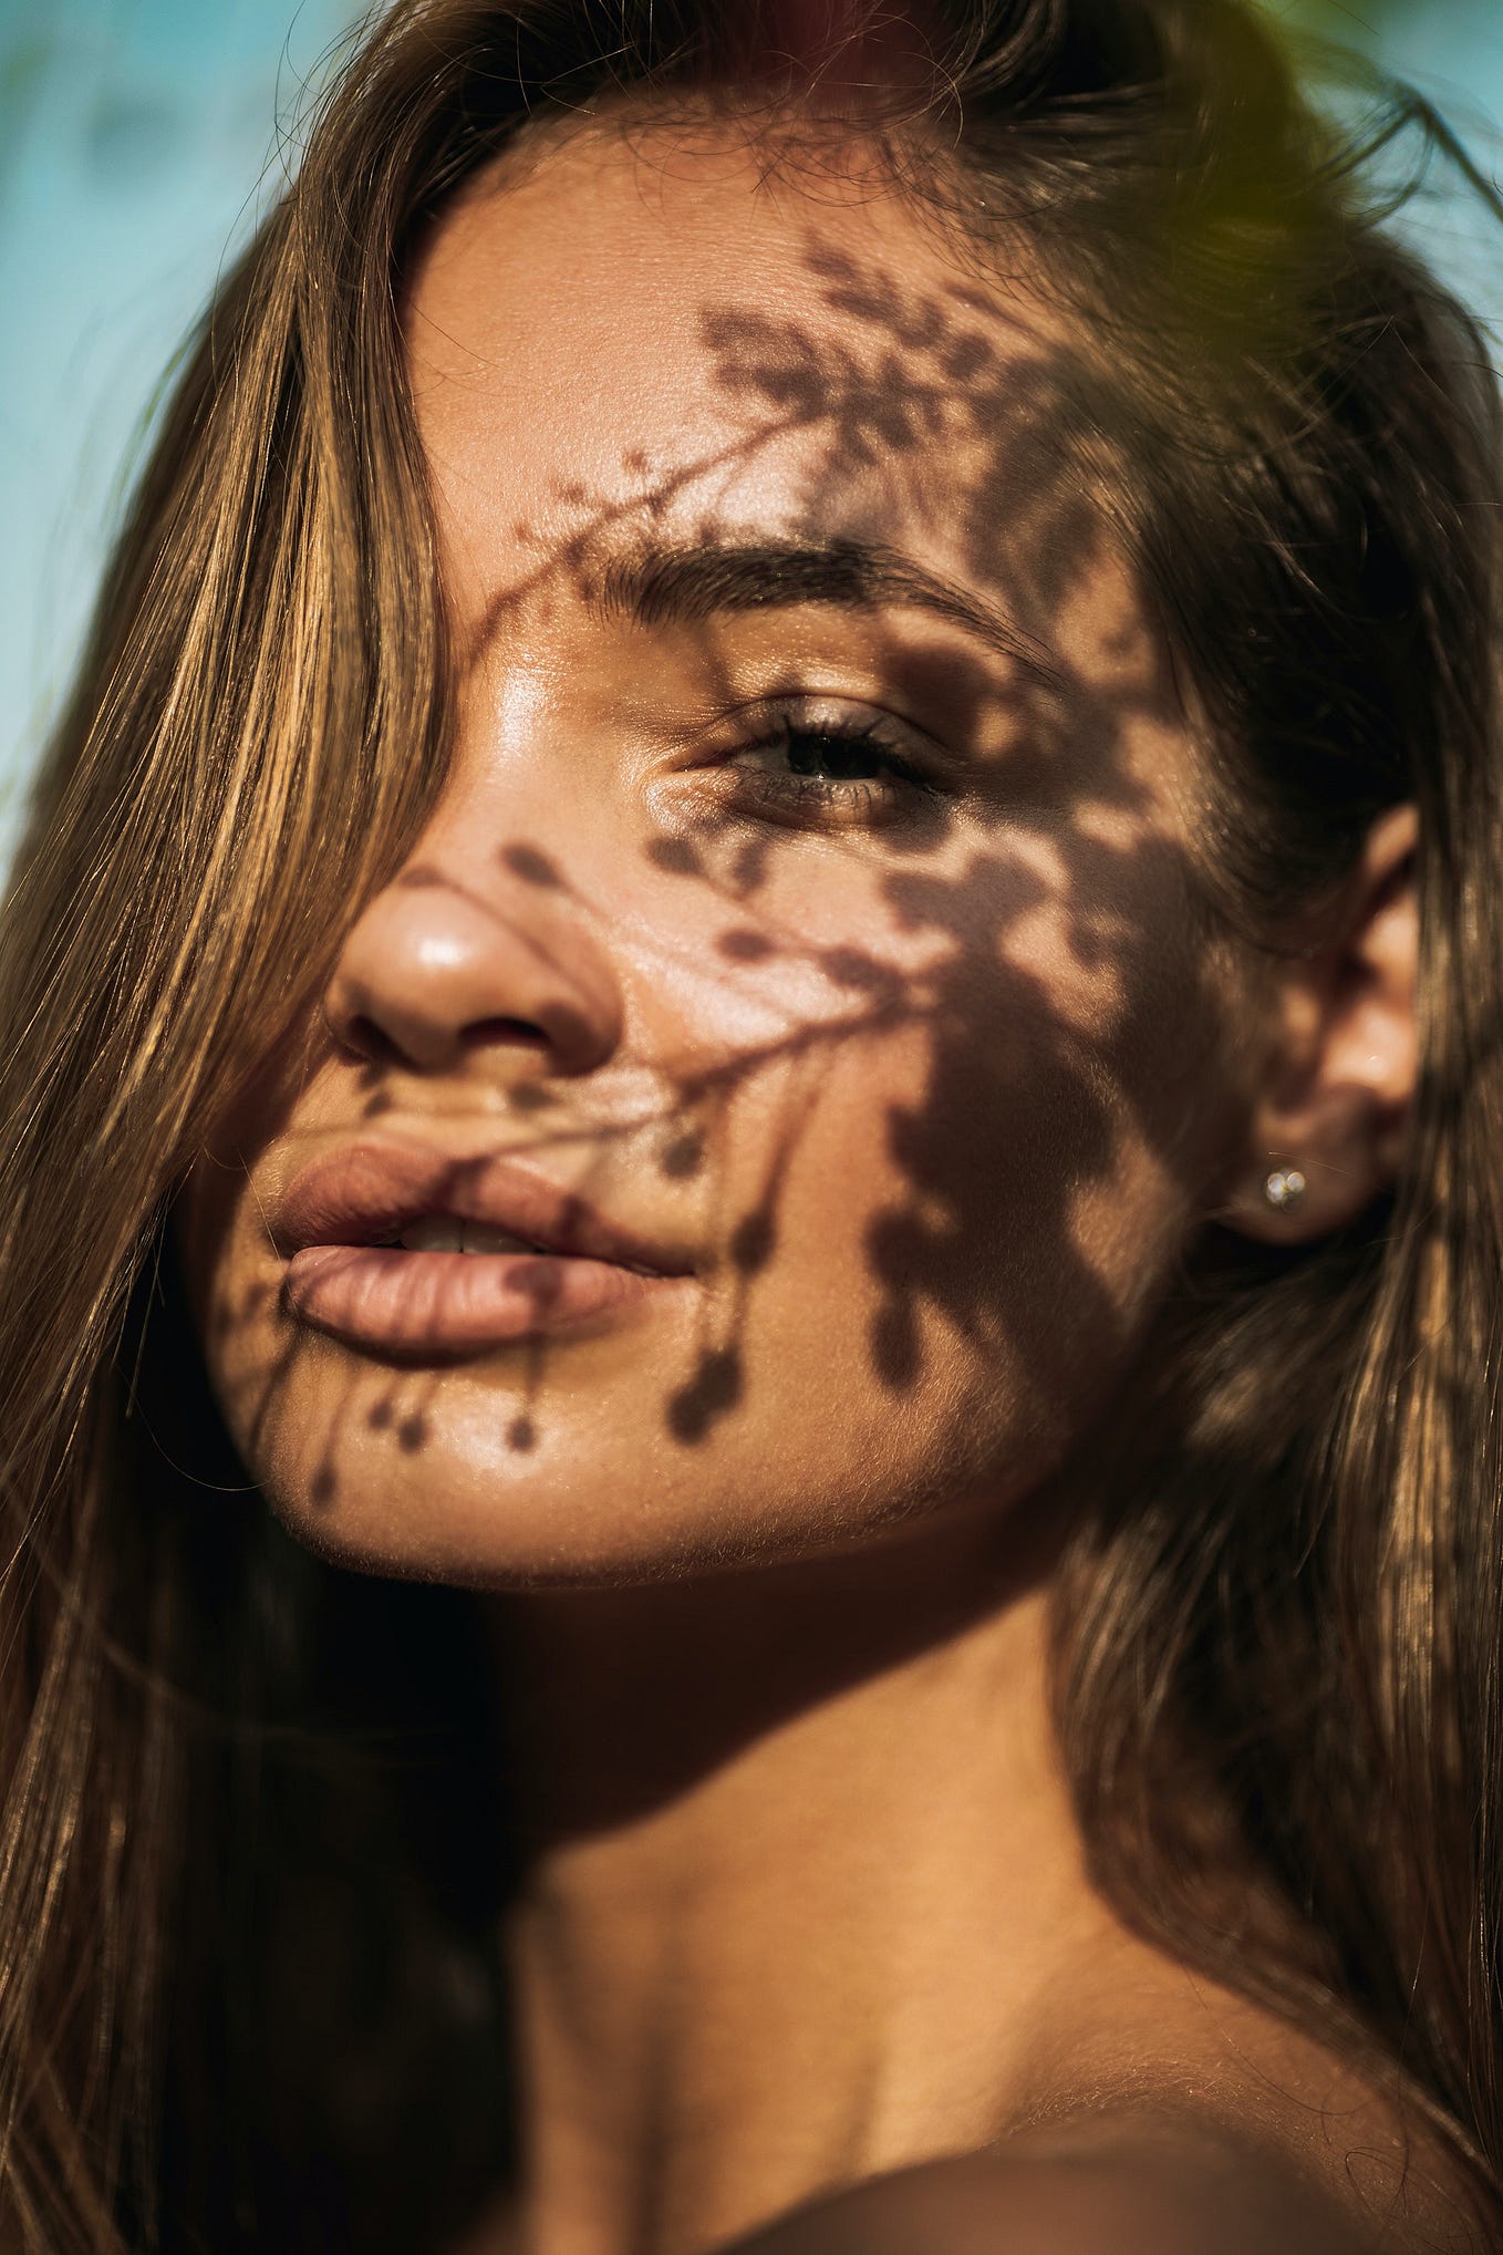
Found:
[[[1323,940],[1278,972],[1248,1152],[1221,1213],[1269,1245],[1354,1222],[1397,1175],[1415,1096],[1417,816],[1368,834]],[[1284,1177],[1284,1202],[1269,1177]]]

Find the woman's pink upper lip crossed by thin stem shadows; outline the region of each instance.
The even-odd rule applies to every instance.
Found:
[[[435,1213],[489,1222],[550,1254],[656,1276],[687,1276],[694,1265],[681,1245],[638,1236],[509,1155],[374,1139],[309,1159],[270,1202],[268,1222],[286,1256],[304,1245],[381,1245]]]

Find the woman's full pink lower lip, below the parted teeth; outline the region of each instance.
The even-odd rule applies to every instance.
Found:
[[[315,1330],[385,1353],[464,1353],[545,1339],[647,1308],[683,1276],[638,1276],[572,1254],[412,1254],[306,1245],[286,1265],[286,1308]]]

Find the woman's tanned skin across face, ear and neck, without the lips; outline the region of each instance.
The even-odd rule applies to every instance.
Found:
[[[705,2255],[1091,2093],[1370,2145],[1388,2199],[1368,2095],[1095,1896],[1043,1597],[1206,1218],[1372,1195],[1413,918],[1345,1015],[1208,938],[1068,334],[859,169],[575,131],[439,219],[406,331],[451,773],[178,1218],[293,1531],[527,1592],[523,2201],[464,2255]],[[354,1139],[512,1152],[692,1274],[354,1348],[268,1229]]]

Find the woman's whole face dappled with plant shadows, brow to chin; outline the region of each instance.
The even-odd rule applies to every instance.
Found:
[[[453,767],[180,1206],[230,1432],[354,1563],[1003,1511],[1239,1141],[1068,343],[897,196],[762,169],[577,135],[412,280]],[[421,1215],[493,1249],[372,1249]]]

